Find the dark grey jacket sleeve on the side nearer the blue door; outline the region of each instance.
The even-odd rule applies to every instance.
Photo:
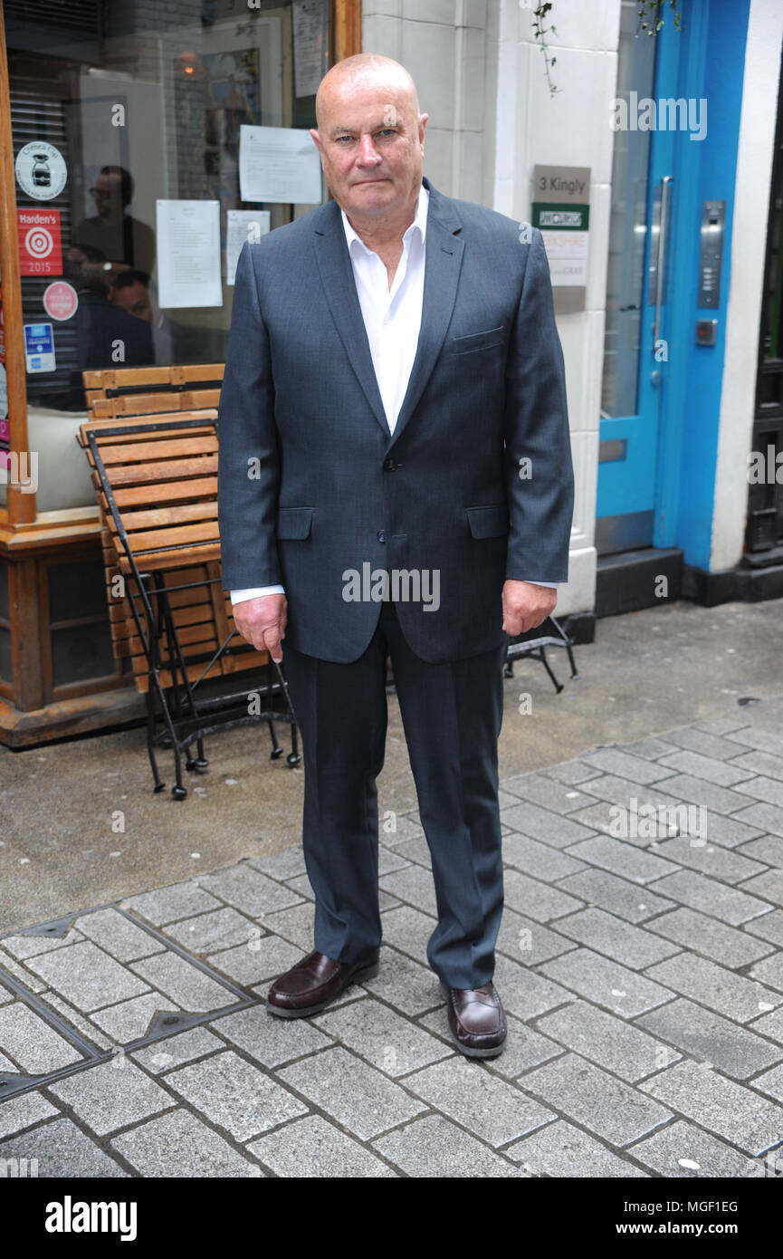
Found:
[[[538,228],[527,246],[511,330],[505,404],[510,531],[506,579],[568,580],[574,511],[565,369],[549,262]]]

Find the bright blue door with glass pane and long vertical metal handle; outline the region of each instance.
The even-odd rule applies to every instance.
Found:
[[[682,137],[660,128],[658,110],[660,101],[676,97],[681,35],[671,19],[655,38],[637,35],[637,10],[634,0],[623,0],[617,99],[626,108],[616,115],[612,170],[595,511],[599,554],[653,544],[676,266],[671,242],[681,212],[672,171],[673,147]]]

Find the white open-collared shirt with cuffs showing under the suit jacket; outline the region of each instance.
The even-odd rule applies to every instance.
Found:
[[[408,389],[422,326],[428,206],[429,193],[422,184],[415,217],[403,235],[403,253],[390,288],[386,264],[379,254],[368,249],[345,210],[340,212],[378,389],[392,433]],[[556,583],[538,582],[536,585],[554,587]],[[262,594],[284,594],[284,590],[282,585],[232,590],[232,604]]]

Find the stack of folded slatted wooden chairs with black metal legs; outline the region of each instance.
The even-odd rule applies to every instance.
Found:
[[[204,737],[222,728],[267,721],[277,759],[274,723],[286,721],[287,762],[301,760],[284,677],[237,635],[220,587],[222,379],[223,364],[83,374],[91,418],[78,441],[101,510],[112,645],[146,696],[155,791],[156,749],[170,747],[176,799],[188,794],[183,764],[204,769]]]

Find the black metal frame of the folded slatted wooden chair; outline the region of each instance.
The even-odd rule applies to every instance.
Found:
[[[209,672],[211,666],[229,651],[229,643],[237,635],[237,631],[232,631],[225,642],[223,642],[211,656],[204,652],[201,655],[189,657],[189,662],[191,665],[204,663],[204,669],[201,670],[199,677],[195,682],[191,682],[188,676],[188,669],[183,656],[179,635],[174,623],[169,596],[175,590],[189,590],[214,585],[220,580],[220,578],[206,578],[198,582],[184,582],[179,585],[166,585],[164,583],[161,570],[145,572],[138,567],[122,522],[122,515],[117,507],[115,495],[110,485],[106,466],[101,457],[101,447],[97,442],[98,436],[106,437],[111,434],[112,438],[128,437],[136,433],[154,433],[162,429],[169,432],[177,428],[203,428],[209,424],[213,424],[214,427],[215,421],[210,418],[166,421],[161,423],[137,421],[136,423],[125,424],[122,427],[112,426],[111,429],[84,429],[84,437],[89,446],[94,470],[101,482],[101,488],[106,496],[106,502],[111,511],[117,536],[130,568],[130,575],[136,585],[136,589],[132,590],[130,588],[130,582],[126,580],[125,593],[127,596],[147,663],[147,754],[152,769],[155,791],[161,792],[166,786],[160,777],[155,749],[157,747],[169,747],[174,752],[175,786],[171,788],[171,794],[175,799],[184,799],[188,794],[188,788],[183,783],[183,758],[185,758],[185,769],[205,769],[209,762],[204,755],[204,737],[220,729],[232,729],[238,725],[251,725],[258,721],[266,721],[272,738],[271,759],[277,760],[277,758],[282,755],[283,749],[277,740],[274,721],[287,721],[291,725],[291,752],[286,757],[286,760],[288,765],[295,767],[300,764],[302,759],[298,750],[298,730],[291,697],[288,695],[288,687],[279,665],[277,665],[272,657],[269,657],[266,666],[259,666],[259,669],[266,669],[266,686],[256,687],[259,695],[261,690],[266,692],[266,706],[262,711],[253,714],[248,713],[247,689],[242,691],[233,691],[228,695],[210,696],[199,700],[195,699],[194,692],[196,687]],[[175,544],[171,550],[176,550],[177,546],[181,546],[183,549],[191,549],[198,545],[199,543]],[[214,543],[203,543],[201,545],[214,545]],[[199,563],[199,560],[194,559],[193,563]],[[141,607],[138,607],[138,604]],[[161,642],[165,643],[166,647],[165,655],[161,652]],[[244,647],[240,647],[239,652],[245,653],[253,650],[254,648],[248,643]],[[161,682],[160,675],[162,670],[171,674],[171,685],[167,687],[165,687]],[[277,676],[276,681],[273,680],[273,675]],[[276,699],[278,700],[277,708],[274,706]],[[243,701],[242,704],[238,703],[240,700]],[[279,703],[281,700],[282,705]],[[194,743],[196,745],[195,757],[191,754],[191,747]]]

